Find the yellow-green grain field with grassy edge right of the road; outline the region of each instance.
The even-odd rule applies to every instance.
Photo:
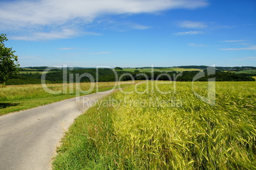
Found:
[[[194,95],[191,82],[177,82],[176,90],[160,84],[166,95],[153,86],[114,93],[80,115],[53,169],[256,169],[255,82],[217,82],[213,106]],[[205,95],[206,87],[194,89]]]

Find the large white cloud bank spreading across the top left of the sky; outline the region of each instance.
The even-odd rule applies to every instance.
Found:
[[[190,0],[0,1],[0,30],[25,34],[25,36],[14,37],[20,40],[63,39],[77,36],[78,33],[75,31],[81,33],[84,26],[103,15],[136,15],[205,6],[208,6],[207,0],[194,0],[193,3]],[[66,31],[67,26],[69,31]],[[133,27],[141,30],[148,29],[143,25]],[[32,36],[27,36],[28,34]],[[97,33],[90,35],[97,35]]]

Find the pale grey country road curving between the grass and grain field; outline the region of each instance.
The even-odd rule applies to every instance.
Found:
[[[55,147],[64,131],[94,101],[111,91],[59,101],[0,116],[0,169],[49,169]]]

